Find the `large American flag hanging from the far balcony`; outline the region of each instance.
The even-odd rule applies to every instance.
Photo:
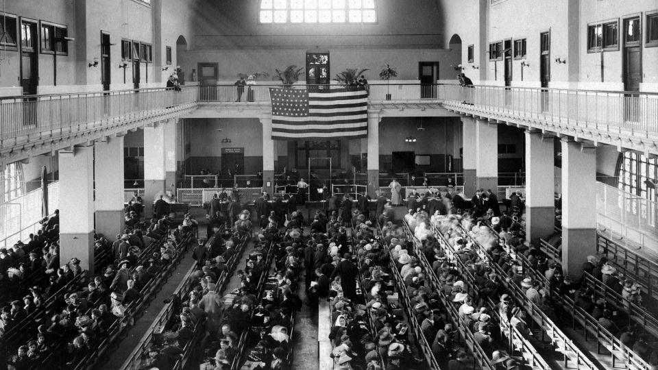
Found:
[[[272,138],[365,138],[368,95],[363,88],[270,88]]]

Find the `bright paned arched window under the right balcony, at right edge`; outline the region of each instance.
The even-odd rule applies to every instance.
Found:
[[[656,158],[646,158],[644,154],[633,151],[626,151],[620,156],[617,166],[618,188],[626,193],[656,201],[656,189],[652,186],[656,180],[658,180]],[[649,182],[649,185],[647,182]]]

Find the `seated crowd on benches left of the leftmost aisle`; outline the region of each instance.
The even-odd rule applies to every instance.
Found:
[[[58,222],[58,212],[44,222]],[[25,293],[19,282],[9,286],[11,299],[2,308],[0,363],[27,370],[47,365],[73,365],[93,354],[108,333],[124,320],[127,310],[141,299],[141,290],[167,269],[191,228],[174,229],[167,219],[138,223],[117,235],[114,243],[95,234],[96,256],[108,254],[108,265],[87,276],[80,260],[60,262],[58,240],[31,236],[30,251],[36,274]],[[34,243],[33,243],[34,242]],[[39,243],[44,243],[39,249]],[[32,248],[32,247],[28,247]],[[42,251],[42,256],[36,251]],[[42,262],[36,262],[37,258]]]

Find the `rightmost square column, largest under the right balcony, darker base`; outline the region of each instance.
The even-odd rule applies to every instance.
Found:
[[[571,277],[596,254],[596,148],[562,140],[562,264]]]

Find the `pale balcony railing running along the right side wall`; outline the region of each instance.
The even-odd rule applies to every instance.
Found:
[[[658,93],[440,85],[444,104],[607,132],[658,133]]]

